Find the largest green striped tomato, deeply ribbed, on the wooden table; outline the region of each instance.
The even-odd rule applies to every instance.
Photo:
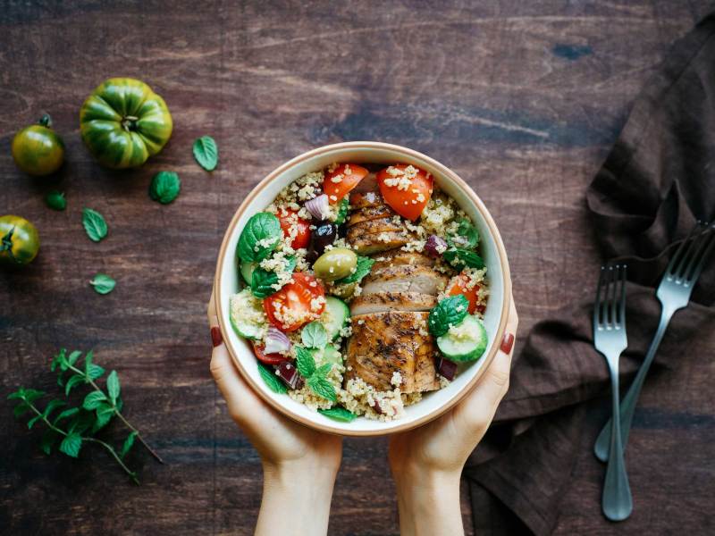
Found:
[[[82,140],[99,163],[111,168],[145,163],[169,141],[172,127],[164,99],[140,80],[105,80],[80,110]]]

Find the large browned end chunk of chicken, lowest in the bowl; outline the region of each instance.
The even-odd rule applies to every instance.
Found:
[[[439,389],[427,315],[390,311],[353,317],[346,378],[358,377],[375,389],[391,390],[393,374],[400,373],[403,393]]]

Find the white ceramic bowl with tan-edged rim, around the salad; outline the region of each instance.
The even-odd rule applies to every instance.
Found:
[[[484,325],[489,334],[489,345],[484,356],[475,363],[460,365],[457,378],[449,386],[425,394],[420,402],[405,408],[406,415],[388,423],[364,417],[359,417],[352,423],[339,423],[311,411],[307,406],[295,402],[287,395],[273,393],[265,386],[258,374],[256,357],[250,344],[233,331],[229,321],[229,297],[240,289],[239,266],[235,255],[236,244],[248,218],[263,211],[282,188],[298,179],[299,176],[323,169],[333,162],[384,163],[387,165],[412,163],[431,172],[439,187],[453,197],[475,222],[481,237],[480,253],[484,257],[487,267],[490,289],[484,315]],[[293,158],[290,162],[283,163],[270,172],[264,180],[258,183],[256,188],[253,188],[241,203],[236,214],[233,215],[223,237],[215,275],[215,300],[223,340],[226,342],[226,347],[236,367],[258,395],[282,414],[299,423],[321,431],[350,436],[381,435],[408,430],[431,421],[457,404],[475,385],[496,354],[507,322],[510,296],[509,264],[501,236],[491,214],[472,188],[469,188],[464,180],[461,180],[457,174],[442,163],[436,162],[428,156],[406,147],[374,141],[356,141],[318,147]]]

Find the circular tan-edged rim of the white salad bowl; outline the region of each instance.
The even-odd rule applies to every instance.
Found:
[[[221,304],[223,303],[222,300],[222,268],[223,268],[223,263],[225,261],[225,256],[227,254],[227,249],[228,249],[228,243],[231,239],[231,236],[233,235],[233,232],[235,231],[236,226],[238,225],[238,222],[240,220],[240,217],[246,212],[248,209],[248,205],[251,205],[253,200],[257,197],[258,193],[262,191],[268,184],[271,183],[277,176],[281,175],[283,172],[286,172],[290,170],[290,168],[294,167],[298,163],[303,162],[304,160],[307,160],[308,158],[313,158],[314,156],[317,155],[322,155],[327,152],[332,152],[335,150],[342,150],[342,149],[356,149],[356,148],[361,148],[361,149],[383,149],[383,150],[390,150],[396,153],[399,153],[400,155],[404,155],[406,161],[409,160],[409,158],[414,157],[417,159],[422,159],[426,161],[427,163],[430,163],[433,165],[435,169],[438,169],[443,175],[446,175],[450,178],[450,180],[453,180],[454,183],[458,186],[458,188],[462,189],[465,193],[465,195],[469,198],[469,200],[475,205],[475,208],[479,211],[480,214],[482,214],[482,217],[484,218],[484,222],[486,223],[487,227],[489,228],[490,233],[492,234],[492,239],[494,240],[494,244],[496,246],[497,253],[499,255],[499,262],[501,265],[501,276],[502,276],[502,285],[503,285],[503,298],[501,302],[501,317],[499,321],[499,325],[497,327],[496,331],[496,339],[497,341],[501,341],[501,339],[504,336],[504,331],[506,331],[506,326],[507,326],[507,320],[509,316],[509,306],[510,306],[510,301],[511,301],[511,276],[509,272],[509,261],[507,259],[507,252],[504,247],[504,243],[501,239],[501,234],[499,233],[499,230],[497,229],[496,223],[494,222],[492,218],[492,214],[489,213],[487,210],[486,206],[484,205],[484,202],[482,199],[476,195],[475,191],[467,184],[465,180],[463,180],[461,177],[458,176],[457,173],[453,172],[448,168],[446,165],[443,163],[440,163],[430,156],[424,155],[414,149],[410,149],[408,147],[402,147],[399,145],[394,145],[390,143],[384,143],[380,141],[347,141],[347,142],[341,142],[341,143],[335,143],[331,145],[326,145],[322,147],[315,147],[315,149],[311,149],[305,153],[302,153],[301,155],[295,156],[294,158],[291,158],[289,161],[282,163],[280,166],[275,168],[272,172],[269,172],[263,180],[258,182],[258,184],[251,189],[251,191],[248,193],[248,196],[243,200],[243,202],[239,205],[238,209],[236,209],[236,212],[233,214],[233,217],[231,218],[231,222],[229,222],[228,227],[226,228],[225,233],[223,234],[223,240],[221,242],[221,247],[219,249],[218,253],[218,258],[216,261],[216,271],[214,273],[214,300],[216,304],[216,314],[218,318],[218,324],[219,324],[219,329],[221,330],[221,334],[223,337],[223,341],[226,345],[226,349],[229,352],[229,355],[231,356],[231,360],[233,361],[233,364],[236,366],[236,368],[239,370],[240,375],[243,377],[245,381],[248,382],[250,385],[251,389],[253,389],[257,395],[262,398],[267,404],[270,406],[273,406],[277,411],[279,411],[282,415],[285,415],[289,417],[291,420],[296,421],[298,423],[304,424],[305,426],[318,430],[318,431],[324,431],[327,433],[332,433],[335,435],[341,435],[341,436],[352,436],[352,437],[370,437],[370,436],[381,436],[381,435],[388,435],[391,433],[396,433],[400,431],[408,431],[413,428],[416,428],[418,426],[421,426],[425,423],[429,423],[430,421],[433,421],[434,419],[438,418],[441,415],[444,415],[447,413],[452,407],[456,406],[458,402],[467,396],[469,392],[471,392],[472,389],[474,389],[476,383],[482,378],[484,373],[486,372],[487,368],[489,365],[492,363],[492,359],[494,356],[496,356],[496,353],[499,351],[500,344],[493,344],[491,351],[487,356],[484,356],[484,361],[485,363],[479,367],[479,370],[475,373],[475,376],[469,381],[466,385],[462,387],[462,389],[450,400],[443,404],[442,406],[435,407],[433,411],[423,415],[422,417],[406,422],[406,423],[401,423],[398,424],[397,426],[391,427],[389,430],[385,431],[380,431],[380,430],[345,430],[342,428],[336,428],[332,427],[330,424],[324,424],[324,423],[317,423],[315,421],[311,421],[307,418],[304,418],[302,415],[296,415],[293,414],[290,409],[288,409],[287,406],[282,405],[280,401],[278,401],[275,398],[272,398],[270,396],[267,396],[262,389],[259,389],[258,386],[256,385],[256,381],[253,380],[250,374],[248,374],[247,371],[244,370],[243,365],[240,362],[239,357],[237,356],[236,350],[231,346],[230,338],[228,336],[228,330],[231,329],[231,322],[228,321],[227,318],[224,317],[223,314],[223,307]]]

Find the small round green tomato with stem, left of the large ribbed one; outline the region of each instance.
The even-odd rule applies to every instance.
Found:
[[[49,175],[56,172],[64,161],[64,143],[50,126],[52,120],[45,114],[32,125],[22,129],[13,138],[13,159],[29,175]]]

